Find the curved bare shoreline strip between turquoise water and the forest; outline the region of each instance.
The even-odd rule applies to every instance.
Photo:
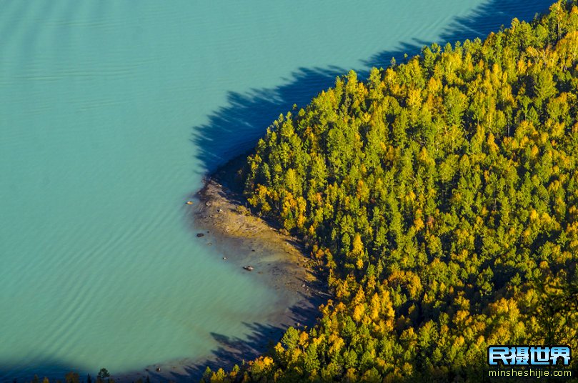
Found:
[[[207,350],[202,359],[179,359],[148,366],[140,371],[120,374],[116,382],[154,381],[196,382],[209,365],[211,369],[231,368],[265,352],[276,344],[289,326],[314,324],[317,307],[327,300],[325,285],[314,275],[306,249],[294,238],[281,234],[263,219],[241,213],[244,199],[235,183],[236,169],[246,156],[239,156],[204,179],[204,187],[187,205],[191,230],[196,239],[214,246],[239,272],[250,273],[279,297],[276,309],[249,328],[248,339],[218,339],[219,348]],[[239,207],[241,207],[239,209]],[[244,266],[250,265],[252,271]],[[157,372],[156,369],[161,371]]]

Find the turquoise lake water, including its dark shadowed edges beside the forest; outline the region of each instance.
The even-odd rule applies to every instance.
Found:
[[[278,297],[196,239],[202,176],[336,74],[549,2],[0,0],[0,381],[246,337]]]

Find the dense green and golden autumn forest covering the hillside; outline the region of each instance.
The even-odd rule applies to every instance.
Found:
[[[279,116],[246,197],[309,245],[333,299],[205,379],[481,381],[489,345],[578,352],[577,104],[574,0]]]

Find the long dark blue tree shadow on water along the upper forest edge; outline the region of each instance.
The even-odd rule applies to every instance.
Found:
[[[547,11],[552,2],[553,0],[490,0],[469,15],[450,22],[437,41],[399,41],[396,49],[379,52],[362,60],[362,67],[351,69],[358,71],[360,78],[365,78],[373,66],[386,67],[392,57],[397,62],[402,62],[404,54],[414,56],[419,54],[423,46],[434,42],[443,45],[476,37],[483,39],[489,32],[497,31],[501,26],[509,26],[514,17],[532,20],[537,14]],[[191,141],[196,146],[196,157],[201,162],[201,167],[210,173],[229,159],[249,151],[279,114],[290,111],[294,104],[299,107],[309,104],[319,91],[332,86],[335,78],[347,74],[347,71],[349,69],[339,66],[302,67],[279,86],[251,89],[244,94],[229,92],[226,106],[209,115],[206,124],[194,126],[192,129]]]

